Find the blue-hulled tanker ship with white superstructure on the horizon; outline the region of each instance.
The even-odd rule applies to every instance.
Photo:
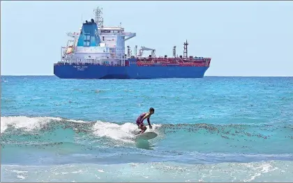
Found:
[[[136,33],[121,26],[104,26],[102,8],[93,10],[95,19],[85,21],[78,32],[69,32],[61,60],[54,63],[54,75],[61,79],[158,79],[202,78],[211,58],[188,56],[188,42],[183,42],[183,56],[156,56],[156,49],[141,47],[134,54],[125,42]],[[144,51],[151,51],[143,56]]]

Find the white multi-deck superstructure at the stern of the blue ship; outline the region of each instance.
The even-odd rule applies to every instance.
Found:
[[[80,40],[80,32],[67,33],[71,37],[68,40],[66,47],[61,47],[61,62],[63,63],[96,63],[100,65],[125,65],[125,41],[135,37],[136,33],[125,32],[121,26],[103,26],[102,10],[96,8],[96,25],[98,31],[95,35],[99,39],[96,40],[96,45],[89,45],[93,35],[84,32],[84,45],[77,44]],[[93,19],[91,20],[93,22]],[[87,22],[91,24],[91,22]],[[91,30],[91,29],[90,29]]]

